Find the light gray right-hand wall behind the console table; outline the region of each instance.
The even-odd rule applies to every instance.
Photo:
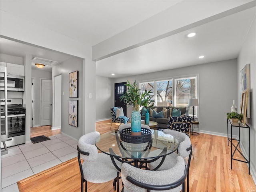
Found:
[[[246,36],[243,47],[238,56],[237,75],[244,68],[246,64],[250,64],[250,97],[251,97],[251,118],[246,118],[246,124],[250,126],[250,163],[251,174],[256,182],[256,19],[252,22],[252,26]],[[239,85],[239,79],[237,80]],[[239,91],[237,97],[240,98]],[[240,100],[239,100],[240,104]],[[240,111],[240,105],[237,105]],[[241,147],[242,152],[248,158],[248,130],[241,129]]]

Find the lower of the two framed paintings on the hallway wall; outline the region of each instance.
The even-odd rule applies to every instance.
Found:
[[[68,124],[78,127],[78,100],[69,100]]]

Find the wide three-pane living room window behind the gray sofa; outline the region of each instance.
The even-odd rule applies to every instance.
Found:
[[[169,78],[166,80],[142,82],[139,86],[142,91],[151,89],[154,92],[156,106],[186,106],[189,109],[189,115],[192,116],[193,106],[188,106],[188,100],[190,98],[197,98],[196,80],[197,76]],[[197,116],[196,106],[194,115]]]

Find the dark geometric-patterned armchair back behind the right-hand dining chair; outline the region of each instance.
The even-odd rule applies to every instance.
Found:
[[[167,128],[179,132],[188,132],[189,134],[191,123],[192,118],[188,116],[169,117]]]

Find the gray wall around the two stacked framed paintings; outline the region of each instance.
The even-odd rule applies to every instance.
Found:
[[[52,68],[52,76],[61,74],[61,132],[67,136],[70,136],[78,140],[82,136],[82,88],[83,88],[83,73],[82,73],[83,61],[79,58],[71,58],[58,64]],[[78,76],[78,98],[69,98],[69,73],[79,71]],[[64,95],[63,95],[64,93]],[[78,100],[78,127],[74,127],[68,124],[68,108],[69,100]]]

